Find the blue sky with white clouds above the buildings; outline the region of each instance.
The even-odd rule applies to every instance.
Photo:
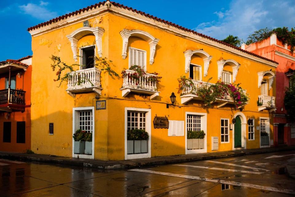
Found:
[[[100,1],[2,1],[0,61],[32,55],[28,27],[98,2]],[[116,2],[217,39],[233,34],[246,41],[248,35],[261,28],[295,26],[294,0],[116,0]]]

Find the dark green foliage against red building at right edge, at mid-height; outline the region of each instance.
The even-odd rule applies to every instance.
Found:
[[[295,120],[295,71],[290,77],[290,87],[285,92],[284,104],[285,109],[290,115],[291,120]]]

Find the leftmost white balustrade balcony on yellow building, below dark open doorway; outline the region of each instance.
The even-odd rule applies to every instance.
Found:
[[[70,73],[67,93],[75,97],[75,93],[95,92],[101,95],[100,70],[96,67],[77,70]]]

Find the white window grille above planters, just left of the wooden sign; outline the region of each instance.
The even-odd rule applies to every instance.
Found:
[[[127,113],[127,130],[142,129],[145,130],[145,112]]]

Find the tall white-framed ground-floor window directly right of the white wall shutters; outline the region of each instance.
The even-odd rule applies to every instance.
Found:
[[[205,137],[200,140],[187,139],[188,131],[204,131]],[[193,143],[193,144],[192,144]],[[185,154],[207,152],[207,114],[197,112],[185,113]]]

